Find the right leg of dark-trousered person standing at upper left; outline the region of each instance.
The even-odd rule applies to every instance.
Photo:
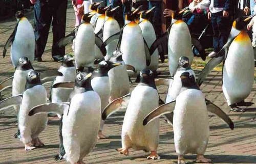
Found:
[[[56,43],[63,37],[66,32],[66,15],[67,15],[67,0],[59,0],[54,4],[53,21],[52,21],[52,57],[54,61],[61,60],[65,55],[65,47],[58,48]]]

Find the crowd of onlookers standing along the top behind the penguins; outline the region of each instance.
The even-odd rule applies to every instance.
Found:
[[[71,0],[75,11],[75,27],[81,22],[82,15],[89,12],[89,5],[101,0]],[[65,55],[65,47],[54,46],[57,41],[65,36],[66,30],[66,11],[68,0],[30,0],[34,5],[35,37],[37,51],[35,61],[41,62],[42,54],[47,43],[50,25],[52,23],[53,46],[52,58],[54,61],[61,61]],[[215,57],[217,52],[226,43],[232,20],[237,17],[254,14],[256,0],[168,0],[166,9],[162,9],[162,0],[105,0],[103,5],[119,6],[115,18],[122,27],[124,25],[124,14],[140,5],[143,9],[155,7],[154,15],[151,19],[156,32],[156,36],[162,33],[161,16],[169,19],[174,11],[188,7],[190,10],[189,17],[184,18],[191,31],[197,29],[198,25],[203,22],[211,21],[213,30],[213,51],[209,57]],[[207,20],[208,18],[208,20]],[[256,27],[253,18],[247,25],[248,34],[252,38],[252,46],[256,47]],[[251,32],[252,31],[252,32]],[[254,33],[253,33],[254,31]]]

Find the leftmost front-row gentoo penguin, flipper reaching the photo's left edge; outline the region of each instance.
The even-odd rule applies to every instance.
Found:
[[[39,73],[34,70],[27,74],[26,90],[23,94],[7,98],[0,102],[0,108],[9,107],[10,105],[20,105],[18,129],[20,131],[20,140],[25,144],[26,151],[44,145],[39,140],[38,135],[47,126],[47,114],[39,114],[33,117],[29,117],[28,114],[32,107],[46,102],[46,89],[41,85]]]

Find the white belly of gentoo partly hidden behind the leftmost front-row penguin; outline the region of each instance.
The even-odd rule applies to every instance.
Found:
[[[18,94],[22,94],[25,91],[26,81],[27,81],[27,73],[31,71],[29,70],[15,70],[12,80],[12,96],[16,96]]]

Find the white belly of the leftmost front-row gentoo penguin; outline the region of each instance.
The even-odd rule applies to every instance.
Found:
[[[39,133],[47,126],[47,114],[28,116],[32,107],[43,103],[47,103],[47,93],[44,86],[37,85],[23,93],[22,104],[19,110],[18,128],[24,144],[37,138]]]

